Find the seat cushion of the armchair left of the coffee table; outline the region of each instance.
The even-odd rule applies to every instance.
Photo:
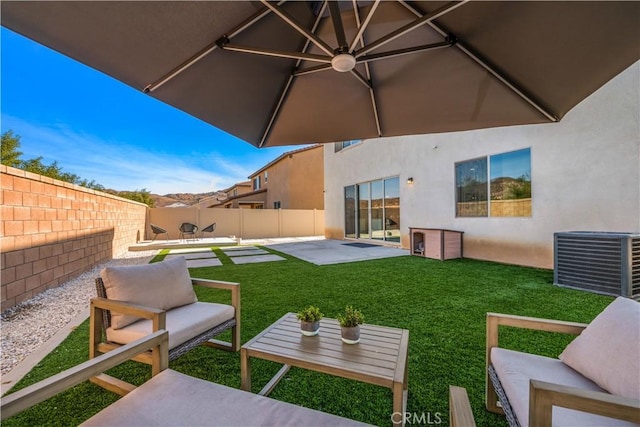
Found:
[[[169,349],[172,349],[209,329],[233,319],[235,309],[226,304],[195,302],[167,311]],[[152,332],[151,320],[138,320],[124,328],[107,329],[107,340],[128,344]]]

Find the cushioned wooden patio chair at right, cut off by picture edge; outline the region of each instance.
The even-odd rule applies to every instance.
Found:
[[[499,347],[498,327],[578,335],[559,358]],[[487,313],[486,407],[511,427],[640,423],[640,304],[619,297],[590,324]]]

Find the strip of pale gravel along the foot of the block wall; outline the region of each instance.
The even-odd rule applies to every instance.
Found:
[[[89,300],[96,296],[94,279],[104,267],[146,264],[156,253],[155,250],[127,252],[2,312],[0,375],[10,372],[60,328],[88,308]]]

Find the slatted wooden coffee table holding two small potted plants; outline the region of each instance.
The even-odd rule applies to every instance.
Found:
[[[251,357],[283,363],[284,366],[259,394],[267,395],[291,366],[388,387],[393,391],[393,414],[400,424],[407,403],[407,353],[409,331],[365,324],[360,343],[345,344],[335,319],[320,321],[320,333],[307,337],[300,322],[287,313],[240,349],[242,389],[251,391]]]

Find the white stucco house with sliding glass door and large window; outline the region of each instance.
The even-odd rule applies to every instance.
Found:
[[[640,232],[639,64],[558,123],[328,145],[326,236],[452,229],[465,257],[553,268],[554,232]]]

